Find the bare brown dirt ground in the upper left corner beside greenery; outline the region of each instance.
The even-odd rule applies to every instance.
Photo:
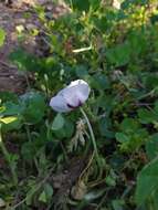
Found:
[[[63,4],[55,7],[46,0],[13,0],[12,6],[7,6],[0,0],[0,28],[7,33],[4,45],[0,48],[0,92],[21,94],[25,90],[25,76],[9,62],[8,55],[19,45],[17,33],[19,27],[24,30],[42,27],[33,11],[36,3],[46,7],[48,12],[52,12],[54,18],[66,12]],[[29,18],[25,18],[25,13],[29,13]],[[22,45],[29,52],[36,52],[36,42],[33,39],[28,38]]]

